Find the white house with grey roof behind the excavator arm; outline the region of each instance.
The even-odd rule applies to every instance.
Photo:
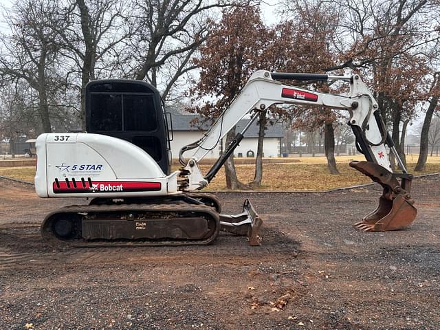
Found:
[[[197,120],[198,119],[198,120]],[[208,131],[210,125],[203,123],[203,120],[198,115],[182,115],[173,113],[173,141],[171,141],[171,153],[173,158],[179,157],[179,151],[182,146],[186,146],[199,140]],[[243,127],[249,120],[240,120],[236,125],[236,132],[241,132]],[[252,126],[245,132],[243,140],[234,151],[235,157],[254,157],[256,155],[256,148],[259,137],[259,126],[254,121]],[[265,139],[263,144],[264,157],[279,157],[281,138],[283,131],[281,124],[268,125],[265,130]],[[223,144],[220,144],[206,155],[206,158],[217,158],[222,150],[225,148],[225,139]],[[188,151],[185,156],[188,157],[191,151]]]

